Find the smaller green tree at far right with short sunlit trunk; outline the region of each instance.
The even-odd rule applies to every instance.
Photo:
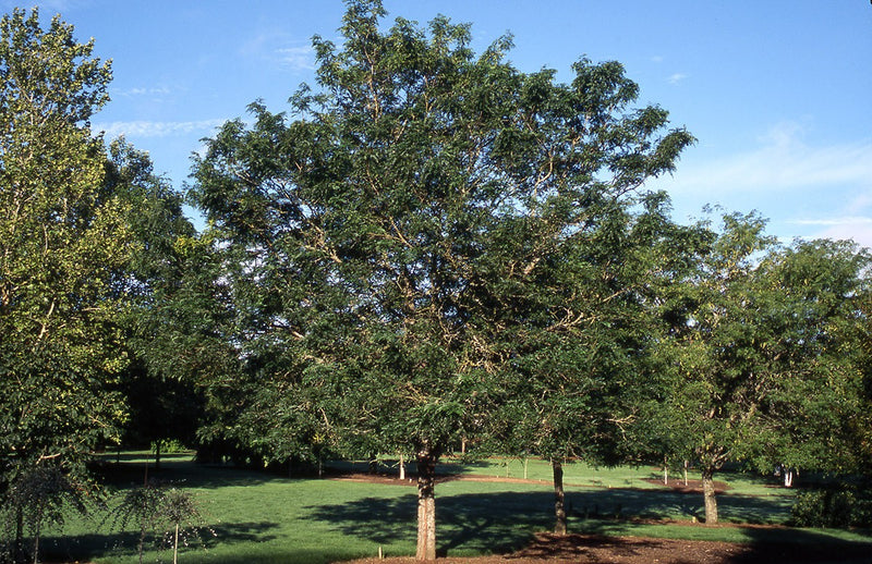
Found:
[[[783,249],[753,213],[723,219],[695,274],[664,302],[671,341],[661,366],[676,380],[644,418],[656,444],[699,464],[708,524],[726,462],[835,468],[858,403],[860,377],[845,355],[859,344],[868,263],[844,244]]]

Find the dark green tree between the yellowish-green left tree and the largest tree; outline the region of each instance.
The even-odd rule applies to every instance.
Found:
[[[182,211],[183,197],[155,174],[148,155],[123,138],[109,146],[105,191],[123,200],[130,210],[126,223],[136,241],[126,277],[129,308],[123,320],[125,348],[131,359],[120,383],[130,419],[128,444],[156,446],[160,464],[161,443],[179,440],[195,444],[203,415],[203,393],[185,370],[182,351],[191,345],[182,339],[179,323],[180,296],[190,289],[195,230]]]

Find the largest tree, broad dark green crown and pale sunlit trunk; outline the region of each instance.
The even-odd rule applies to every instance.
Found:
[[[349,2],[341,47],[315,39],[318,90],[292,97],[293,118],[255,103],[251,127],[227,123],[194,196],[227,257],[233,342],[271,390],[249,413],[347,452],[412,453],[417,556],[433,559],[435,464],[488,432],[528,314],[574,323],[516,301],[565,249],[583,263],[691,138],[629,107],[618,63],[580,60],[561,84],[512,68],[508,37],[476,56],[467,25],[383,32],[384,16]]]

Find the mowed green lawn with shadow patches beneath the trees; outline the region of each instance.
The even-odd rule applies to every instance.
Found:
[[[363,469],[365,465],[354,465]],[[142,483],[145,458],[125,454],[107,466],[108,486],[123,493]],[[351,465],[338,465],[349,469]],[[413,465],[411,469],[413,469]],[[396,471],[385,461],[382,471]],[[471,556],[510,552],[553,524],[554,494],[547,463],[518,459],[444,465],[437,486],[437,543],[443,554]],[[207,525],[206,548],[189,542],[180,562],[319,563],[414,553],[416,489],[412,481],[374,483],[347,479],[288,478],[225,466],[197,465],[190,455],[168,456],[150,476],[191,491]],[[566,465],[570,529],[579,532],[759,542],[872,540],[845,531],[738,527],[735,524],[782,524],[789,517],[794,491],[773,481],[726,474],[729,489],[718,496],[726,526],[691,522],[703,514],[700,494],[652,485],[653,468],[592,468]],[[513,481],[492,481],[495,478]],[[677,478],[677,476],[676,476]],[[693,476],[691,476],[693,478]],[[481,481],[485,480],[485,481]],[[658,519],[674,523],[661,524]],[[71,518],[43,545],[50,561],[138,562],[136,528],[117,530],[104,516]],[[149,550],[144,562],[171,562],[169,550]]]

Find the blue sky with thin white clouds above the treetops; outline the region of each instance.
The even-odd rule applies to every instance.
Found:
[[[20,2],[0,0],[9,12]],[[24,3],[23,5],[29,5]],[[868,0],[385,0],[396,16],[470,22],[481,50],[511,32],[510,60],[570,79],[584,56],[617,60],[639,103],[698,139],[667,189],[679,221],[705,204],[758,210],[770,232],[872,247],[872,5]],[[78,39],[113,60],[93,120],[181,187],[190,155],[262,98],[274,111],[314,84],[311,38],[337,39],[341,0],[53,0]]]

